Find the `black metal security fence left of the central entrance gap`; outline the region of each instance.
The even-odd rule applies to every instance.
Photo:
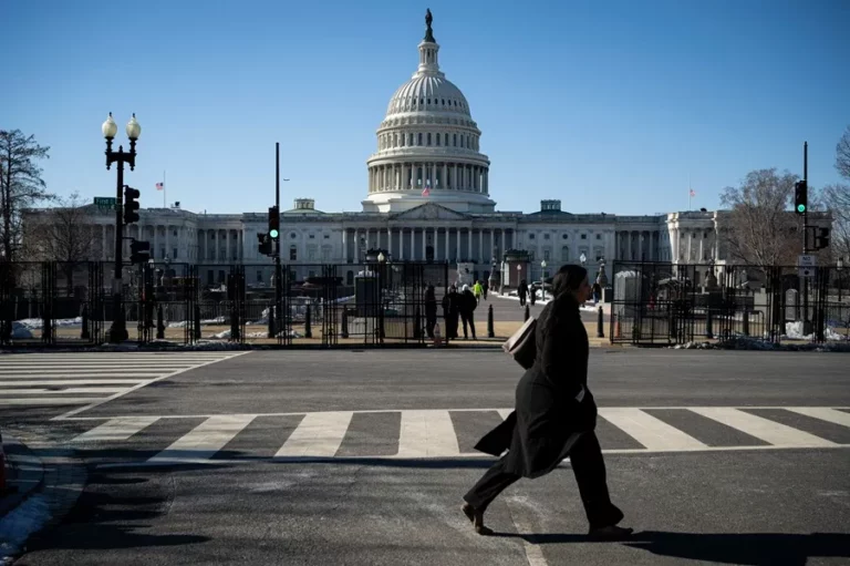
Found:
[[[96,344],[114,318],[113,264],[0,263],[0,342]],[[139,342],[268,346],[424,344],[425,289],[439,301],[448,265],[197,265],[123,270],[127,330]],[[280,287],[280,289],[278,289]],[[134,332],[135,328],[135,332]]]

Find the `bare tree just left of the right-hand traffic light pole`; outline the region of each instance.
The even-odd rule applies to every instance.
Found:
[[[732,259],[766,268],[796,264],[802,223],[789,208],[799,177],[776,168],[753,171],[738,187],[726,187],[721,202],[729,207],[724,230]],[[817,198],[809,188],[809,209]]]

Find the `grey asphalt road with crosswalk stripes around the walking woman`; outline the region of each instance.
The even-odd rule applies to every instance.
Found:
[[[0,407],[90,469],[19,564],[843,564],[849,361],[594,350],[609,484],[638,532],[605,544],[569,463],[491,505],[497,536],[459,513],[520,375],[499,352],[250,352],[92,407]]]

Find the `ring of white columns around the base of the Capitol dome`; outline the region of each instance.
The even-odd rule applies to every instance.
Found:
[[[393,163],[369,168],[369,192],[450,188],[489,194],[489,169],[466,163]]]

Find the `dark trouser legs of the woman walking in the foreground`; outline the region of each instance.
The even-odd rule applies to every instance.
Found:
[[[582,434],[570,451],[570,464],[579,484],[581,502],[590,528],[601,528],[620,523],[623,512],[611,503],[605,481],[605,462],[595,432]],[[505,457],[496,462],[478,480],[464,500],[473,507],[484,511],[506,487],[521,476],[505,470]]]

